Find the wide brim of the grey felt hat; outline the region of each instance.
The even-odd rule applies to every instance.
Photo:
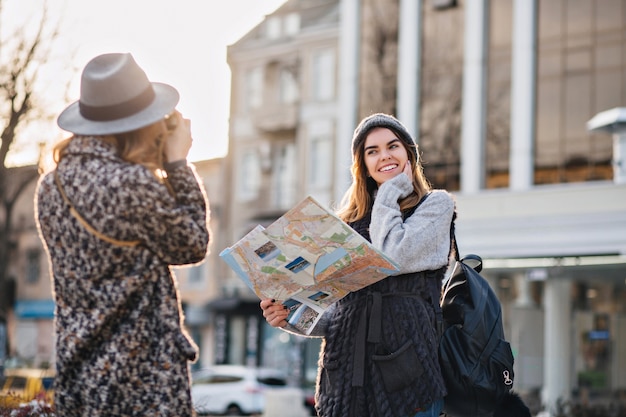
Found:
[[[76,135],[97,136],[130,132],[149,126],[172,112],[180,98],[178,91],[170,85],[153,82],[152,87],[155,93],[152,103],[132,116],[107,121],[86,119],[80,113],[77,101],[61,112],[57,124],[61,129]]]

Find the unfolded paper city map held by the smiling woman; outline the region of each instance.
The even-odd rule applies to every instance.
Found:
[[[267,228],[255,227],[220,257],[261,299],[291,311],[309,334],[324,310],[351,291],[398,272],[398,265],[312,197]]]

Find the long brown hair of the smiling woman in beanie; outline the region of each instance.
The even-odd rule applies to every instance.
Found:
[[[392,130],[393,129],[389,129]],[[394,132],[396,135],[397,132]],[[400,200],[400,210],[409,209],[426,195],[432,186],[424,176],[424,169],[419,161],[418,152],[409,149],[404,141],[400,141],[406,149],[409,161],[413,167],[413,192],[406,198]],[[415,145],[417,147],[417,145]],[[341,207],[337,211],[337,215],[345,222],[354,222],[362,219],[374,204],[374,191],[378,188],[376,182],[367,175],[367,166],[365,165],[365,141],[362,141],[356,149],[350,168],[352,173],[352,184],[343,196]],[[402,175],[402,174],[400,174]]]

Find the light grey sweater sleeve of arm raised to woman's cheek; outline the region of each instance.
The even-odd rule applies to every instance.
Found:
[[[444,190],[434,190],[406,220],[398,200],[409,195],[406,175],[383,183],[374,201],[370,236],[374,246],[400,265],[400,274],[433,270],[448,264],[450,223],[454,200]]]

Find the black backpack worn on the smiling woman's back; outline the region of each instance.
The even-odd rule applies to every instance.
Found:
[[[513,388],[513,353],[504,337],[500,301],[480,276],[482,259],[459,259],[441,294],[443,316],[439,362],[448,390],[446,415],[454,417],[527,416],[528,407]]]

